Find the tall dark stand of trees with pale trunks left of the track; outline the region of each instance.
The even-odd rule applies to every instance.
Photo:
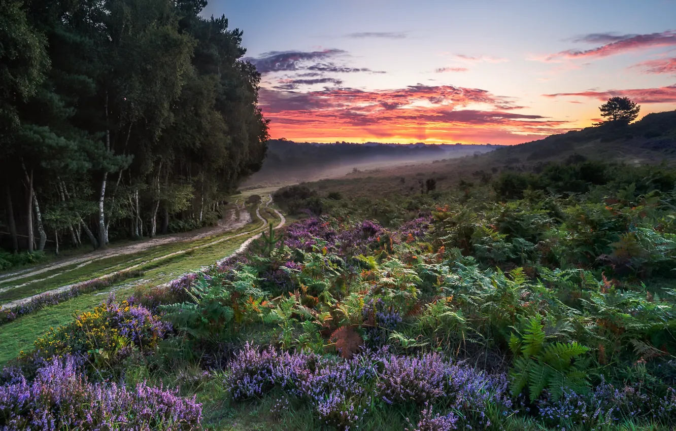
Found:
[[[5,248],[201,226],[260,169],[260,74],[205,6],[0,0]]]

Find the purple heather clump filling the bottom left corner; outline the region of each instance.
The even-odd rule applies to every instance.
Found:
[[[32,382],[17,374],[0,386],[3,430],[193,430],[201,404],[145,383],[90,383],[67,356],[51,359]]]

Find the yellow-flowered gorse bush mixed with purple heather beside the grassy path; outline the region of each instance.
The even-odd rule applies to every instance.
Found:
[[[38,338],[35,353],[42,358],[87,355],[93,363],[112,366],[133,351],[153,351],[171,330],[168,322],[149,309],[126,301],[115,303],[111,297],[92,311],[78,315],[73,322]],[[28,354],[24,353],[24,357]]]

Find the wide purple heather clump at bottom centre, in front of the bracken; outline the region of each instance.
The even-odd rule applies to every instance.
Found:
[[[425,404],[419,430],[450,430],[459,422],[487,427],[496,415],[514,412],[504,374],[489,376],[454,365],[438,353],[406,357],[379,351],[340,359],[247,343],[226,370],[224,384],[233,399],[260,397],[278,388],[308,403],[324,424],[340,429],[359,424],[366,415],[363,406],[377,405],[379,399]],[[284,400],[275,408],[286,405]],[[427,403],[435,400],[451,413],[433,415]]]

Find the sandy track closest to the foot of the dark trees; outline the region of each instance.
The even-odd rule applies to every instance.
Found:
[[[238,215],[239,215],[239,217],[238,217]],[[245,224],[247,224],[249,222],[251,222],[251,215],[249,214],[249,211],[247,211],[245,209],[245,207],[241,206],[241,207],[238,207],[237,209],[233,208],[230,211],[228,211],[228,216],[222,218],[221,220],[218,220],[218,224],[216,226],[213,226],[213,227],[194,230],[192,232],[183,232],[183,233],[180,233],[180,234],[156,236],[155,238],[151,238],[149,240],[144,240],[144,241],[139,241],[138,243],[121,245],[121,246],[118,246],[118,247],[110,247],[109,249],[93,251],[91,253],[87,253],[86,255],[71,257],[69,259],[55,261],[53,263],[49,263],[47,265],[43,265],[43,266],[40,266],[38,268],[28,268],[26,270],[11,272],[11,273],[7,273],[7,274],[1,274],[0,275],[0,282],[6,283],[6,282],[15,281],[15,280],[21,280],[22,278],[28,278],[28,277],[36,276],[38,274],[43,274],[44,272],[48,272],[48,271],[55,270],[55,269],[58,269],[58,268],[63,268],[65,266],[80,263],[80,265],[76,266],[75,268],[68,270],[68,271],[72,271],[72,270],[82,268],[82,266],[84,266],[84,265],[87,265],[89,263],[92,263],[94,261],[98,261],[98,260],[101,260],[101,259],[108,259],[110,257],[116,257],[116,256],[120,256],[120,255],[131,255],[131,254],[134,254],[134,253],[139,253],[139,251],[145,251],[147,249],[151,249],[152,247],[157,247],[158,245],[176,243],[176,242],[179,242],[179,241],[189,242],[189,241],[194,241],[194,240],[206,238],[208,236],[214,236],[214,235],[222,234],[224,232],[229,232],[231,230],[237,230],[239,228],[242,228],[243,226],[245,226]],[[64,272],[68,272],[68,271],[64,271]],[[42,281],[42,280],[47,280],[48,278],[52,278],[52,277],[64,274],[64,272],[60,272],[59,274],[53,274],[52,276],[49,276],[49,277],[46,277],[46,278],[41,278],[39,280],[31,280],[31,282],[38,282],[38,281]],[[25,286],[26,284],[28,284],[28,283],[1,288],[0,292],[9,290],[10,288]]]

